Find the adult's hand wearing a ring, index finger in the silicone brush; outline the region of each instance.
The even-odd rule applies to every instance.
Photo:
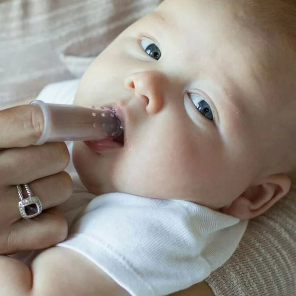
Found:
[[[65,218],[57,206],[72,194],[64,172],[70,156],[65,143],[33,146],[43,130],[38,106],[0,111],[0,254],[42,249],[64,240]],[[29,184],[42,204],[42,213],[21,218],[16,185]]]

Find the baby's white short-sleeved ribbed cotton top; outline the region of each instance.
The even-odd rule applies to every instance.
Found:
[[[78,81],[51,84],[37,99],[72,104]],[[69,237],[58,246],[84,255],[132,296],[164,296],[203,281],[230,258],[247,226],[185,200],[94,197],[76,188],[65,206]],[[82,199],[92,200],[77,215]]]

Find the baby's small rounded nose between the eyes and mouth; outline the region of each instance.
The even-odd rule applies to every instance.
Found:
[[[148,113],[155,114],[162,110],[167,87],[164,74],[157,71],[135,73],[126,79],[125,87],[134,89],[135,96],[145,100]]]

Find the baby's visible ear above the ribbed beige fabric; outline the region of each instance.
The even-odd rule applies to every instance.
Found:
[[[243,220],[255,218],[285,196],[290,187],[291,180],[286,175],[270,175],[261,178],[250,185],[230,205],[222,208],[221,212]]]

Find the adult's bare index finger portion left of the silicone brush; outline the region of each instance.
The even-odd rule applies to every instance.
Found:
[[[27,147],[42,135],[43,114],[38,106],[22,105],[0,111],[0,148]]]

